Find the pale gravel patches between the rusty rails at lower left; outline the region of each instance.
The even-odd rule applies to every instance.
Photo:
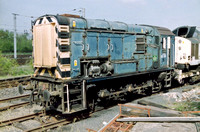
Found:
[[[25,95],[25,94],[30,94],[30,91],[24,91],[23,95]],[[0,89],[0,99],[5,99],[5,98],[19,96],[19,95],[20,94],[18,92],[17,87]],[[28,101],[28,98],[1,103],[0,107],[13,105],[13,104],[17,104],[17,103],[21,103],[21,102],[25,102],[25,101]],[[1,111],[0,112],[0,121],[8,120],[8,119],[16,118],[16,117],[21,117],[21,116],[28,115],[28,114],[33,114],[33,113],[41,110],[41,108],[42,107],[33,104],[32,106],[28,105],[25,107]],[[40,123],[38,121],[28,120],[28,121],[24,121],[22,123],[17,123],[17,124],[11,125],[11,126],[1,127],[0,131],[2,131],[2,132],[22,132],[23,130],[20,128],[31,129],[32,127],[37,127],[39,125],[40,125]]]

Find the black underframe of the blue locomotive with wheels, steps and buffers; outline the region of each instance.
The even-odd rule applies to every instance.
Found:
[[[102,103],[105,101],[128,99],[134,94],[150,95],[163,87],[170,87],[172,72],[173,69],[165,68],[103,78],[71,80],[36,76],[31,78],[32,85],[35,87],[31,101],[40,102],[47,109],[55,109],[63,114],[93,111],[96,105],[104,106]],[[39,97],[38,93],[42,96]]]

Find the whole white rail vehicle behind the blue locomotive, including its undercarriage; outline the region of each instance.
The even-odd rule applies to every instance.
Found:
[[[200,72],[200,32],[195,26],[176,28],[175,37],[175,68],[179,83],[187,79],[190,83],[199,80]]]

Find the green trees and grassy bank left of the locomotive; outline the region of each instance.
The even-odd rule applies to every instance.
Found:
[[[20,66],[15,59],[4,57],[13,55],[13,36],[13,32],[0,30],[0,78],[33,74],[32,60]],[[18,55],[31,54],[32,40],[27,34],[17,35],[17,52]]]

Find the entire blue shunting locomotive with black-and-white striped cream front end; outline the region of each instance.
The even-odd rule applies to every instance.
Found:
[[[35,74],[26,89],[37,93],[33,102],[67,114],[150,94],[171,86],[174,39],[156,26],[39,17],[33,25]]]

